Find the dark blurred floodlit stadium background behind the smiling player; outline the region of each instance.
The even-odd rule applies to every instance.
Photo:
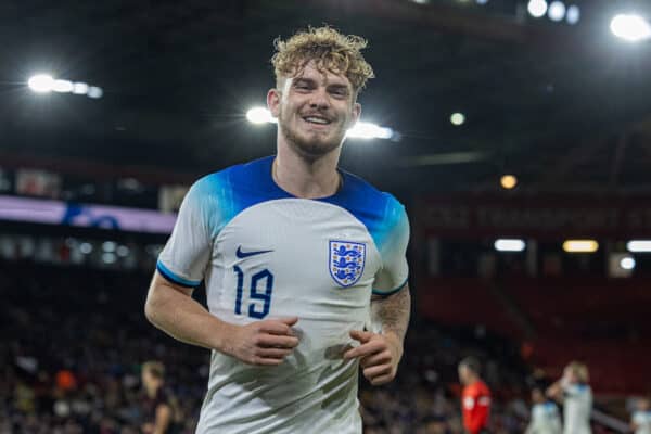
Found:
[[[362,120],[393,129],[349,138],[342,167],[412,224],[406,356],[393,384],[362,381],[367,432],[459,432],[468,355],[495,432],[523,432],[528,390],[573,359],[596,432],[623,432],[651,388],[651,260],[628,244],[651,238],[651,44],[609,24],[651,5],[577,0],[571,24],[531,3],[2,2],[0,433],[138,432],[153,358],[191,432],[208,355],[145,321],[155,258],[187,186],[273,152],[275,127],[246,116],[273,84],[272,39],[323,23],[369,39]],[[95,90],[35,92],[37,73]],[[526,247],[496,251],[505,238]]]

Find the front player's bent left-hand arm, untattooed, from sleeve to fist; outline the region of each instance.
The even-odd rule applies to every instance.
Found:
[[[179,341],[216,349],[250,365],[280,365],[298,345],[292,331],[297,318],[231,324],[194,301],[192,291],[169,282],[155,271],[144,315],[151,323]]]

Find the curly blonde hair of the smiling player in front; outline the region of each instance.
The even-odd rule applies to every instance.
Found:
[[[295,76],[314,60],[320,72],[345,75],[357,93],[374,77],[373,68],[360,52],[367,46],[362,37],[342,35],[329,26],[308,27],[285,41],[277,38],[276,54],[271,58],[276,80]]]

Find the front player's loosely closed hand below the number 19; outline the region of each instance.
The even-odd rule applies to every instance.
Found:
[[[298,345],[292,331],[296,322],[292,317],[233,326],[224,352],[247,365],[278,366]]]

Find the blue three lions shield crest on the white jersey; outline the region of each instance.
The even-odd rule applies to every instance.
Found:
[[[330,241],[330,276],[348,288],[357,283],[363,272],[366,244],[350,241]]]

